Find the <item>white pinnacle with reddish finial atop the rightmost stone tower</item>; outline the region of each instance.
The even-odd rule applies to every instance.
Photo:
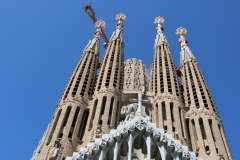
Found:
[[[176,34],[180,35],[179,43],[181,45],[181,65],[189,62],[194,61],[196,62],[196,58],[194,57],[192,51],[188,47],[188,41],[184,37],[187,34],[186,28],[179,27],[176,31]]]

